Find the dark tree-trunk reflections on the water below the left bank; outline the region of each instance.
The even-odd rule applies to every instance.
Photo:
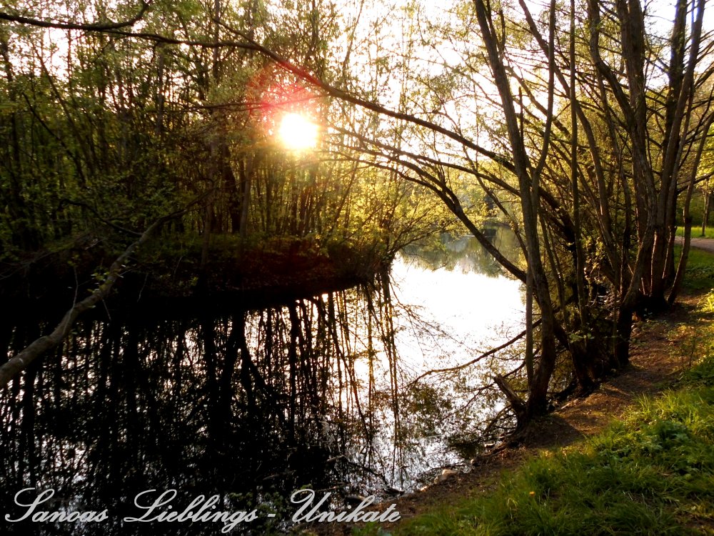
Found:
[[[19,490],[54,488],[60,502],[44,510],[107,507],[109,520],[81,525],[107,534],[140,515],[134,497],[152,488],[178,489],[175,508],[218,493],[224,510],[251,510],[303,485],[340,495],[386,484],[363,468],[388,459],[375,430],[383,410],[398,409],[388,307],[377,284],[261,312],[80,324],[61,352],[0,394],[6,512],[26,511],[11,509]],[[6,346],[22,347],[36,329],[6,333]],[[381,392],[376,374],[391,389]],[[19,525],[7,528],[30,528]],[[78,533],[71,525],[31,529]]]

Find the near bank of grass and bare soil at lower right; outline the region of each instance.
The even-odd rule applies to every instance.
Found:
[[[697,252],[687,293],[635,328],[630,367],[544,417],[523,445],[394,501],[398,523],[316,532],[714,534],[712,267]]]

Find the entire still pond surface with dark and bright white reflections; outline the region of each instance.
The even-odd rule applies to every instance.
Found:
[[[494,237],[515,251],[508,232]],[[37,329],[16,327],[6,346]],[[266,513],[236,528],[262,534],[286,527],[301,487],[333,506],[414,490],[498,435],[490,377],[518,348],[461,366],[521,329],[521,284],[468,237],[408,248],[371,285],[282,307],[80,322],[0,392],[0,500],[16,520],[54,490],[37,511],[106,519],[3,520],[2,533],[220,533],[124,521],[141,515],[139,493],[176,490],[176,508],[215,494],[218,510]]]

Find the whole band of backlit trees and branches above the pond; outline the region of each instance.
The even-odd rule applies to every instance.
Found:
[[[216,236],[389,257],[458,225],[526,285],[523,367],[496,377],[521,425],[556,365],[591,389],[677,297],[712,173],[705,0],[0,6],[7,263],[200,196],[166,231],[200,244],[198,272]],[[286,116],[316,147],[276,141]]]

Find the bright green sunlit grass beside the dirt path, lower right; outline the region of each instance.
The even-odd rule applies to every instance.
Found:
[[[693,253],[686,286],[712,289],[714,256]],[[714,535],[714,289],[700,317],[688,344],[698,364],[668,392],[502,475],[490,494],[405,520],[393,535]]]

